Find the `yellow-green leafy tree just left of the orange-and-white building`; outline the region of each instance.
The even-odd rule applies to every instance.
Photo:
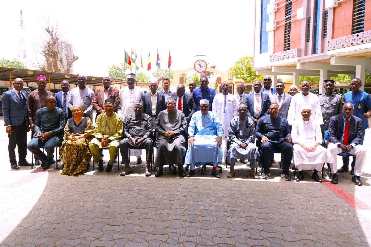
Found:
[[[253,57],[241,57],[228,70],[228,81],[232,82],[234,79],[242,79],[246,82],[253,82],[255,80],[263,81],[262,75],[257,75],[253,70]]]

